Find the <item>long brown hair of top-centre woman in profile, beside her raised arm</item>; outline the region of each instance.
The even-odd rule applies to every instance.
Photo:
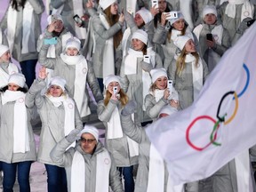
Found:
[[[116,24],[116,22],[118,22],[119,20],[119,15],[112,15],[111,13],[111,5],[108,6],[108,8],[106,10],[104,10],[104,13],[106,14],[106,20],[108,21],[108,24],[110,27],[112,27],[113,25]],[[119,31],[116,32],[116,34],[113,36],[113,41],[114,41],[114,47],[115,49],[118,47],[118,45],[121,43],[123,38],[123,32],[122,29],[120,29]]]

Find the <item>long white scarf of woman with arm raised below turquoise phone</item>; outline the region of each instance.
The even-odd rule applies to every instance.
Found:
[[[68,56],[61,53],[60,58],[67,65],[76,65],[74,100],[76,100],[76,106],[80,116],[90,115],[91,110],[88,106],[88,99],[85,94],[86,77],[88,72],[87,61],[83,55]]]

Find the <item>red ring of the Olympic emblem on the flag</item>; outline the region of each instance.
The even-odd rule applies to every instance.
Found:
[[[216,121],[215,121],[211,116],[197,116],[196,119],[194,119],[194,121],[191,122],[191,124],[188,125],[188,129],[187,129],[187,131],[186,131],[186,140],[187,140],[187,142],[188,142],[188,145],[189,145],[191,148],[194,148],[194,149],[196,149],[196,150],[198,150],[198,151],[202,151],[202,150],[204,150],[204,148],[208,148],[208,147],[212,144],[212,142],[217,139],[217,132],[215,132],[214,139],[211,140],[209,143],[207,143],[203,148],[197,147],[196,145],[194,145],[194,144],[191,142],[191,140],[190,140],[190,138],[189,138],[189,132],[190,132],[192,126],[193,126],[194,124],[196,124],[196,121],[201,120],[201,119],[204,119],[204,118],[205,118],[205,119],[209,119],[210,121],[213,122],[213,124],[216,124]],[[218,125],[217,129],[219,128],[219,126],[220,126],[220,125]]]

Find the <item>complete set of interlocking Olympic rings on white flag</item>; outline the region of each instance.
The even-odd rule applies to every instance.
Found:
[[[220,104],[218,106],[218,110],[217,110],[217,119],[218,121],[214,120],[211,116],[197,116],[192,122],[191,124],[188,125],[188,128],[187,128],[187,131],[186,131],[186,140],[188,142],[188,145],[191,147],[191,148],[194,148],[198,151],[202,151],[204,150],[204,148],[208,148],[211,144],[215,145],[215,146],[220,146],[221,144],[216,142],[215,140],[217,140],[217,133],[218,133],[218,130],[220,128],[220,123],[223,123],[224,125],[226,124],[229,124],[236,116],[236,113],[237,113],[237,110],[238,110],[238,98],[240,98],[244,92],[247,90],[248,88],[248,85],[250,83],[250,71],[249,71],[249,68],[247,68],[247,66],[245,64],[243,64],[243,68],[246,72],[246,75],[247,75],[247,78],[246,78],[246,83],[244,85],[244,89],[242,90],[242,92],[240,92],[239,94],[237,94],[236,92],[234,91],[230,91],[230,92],[226,92],[221,100],[220,100]],[[220,117],[220,106],[223,102],[223,100],[229,95],[229,94],[234,94],[234,97],[233,97],[233,100],[235,100],[236,104],[235,104],[235,109],[234,109],[234,112],[233,114],[228,118],[228,120],[225,121],[225,116],[227,116],[228,114],[226,113],[224,116]],[[204,147],[197,147],[196,145],[194,145],[190,138],[189,138],[189,132],[192,128],[192,126],[194,124],[196,124],[196,121],[198,120],[201,120],[201,119],[208,119],[210,121],[212,121],[214,123],[214,126],[213,126],[213,129],[212,129],[212,133],[211,133],[211,136],[210,136],[210,142],[207,143]]]

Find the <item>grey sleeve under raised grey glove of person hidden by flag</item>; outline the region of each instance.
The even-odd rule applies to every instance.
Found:
[[[145,130],[132,121],[132,116],[120,116],[124,133],[137,143],[148,140]]]

